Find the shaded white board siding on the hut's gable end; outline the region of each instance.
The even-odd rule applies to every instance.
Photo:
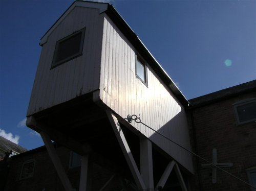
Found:
[[[99,89],[103,16],[75,6],[43,44],[27,115]],[[56,41],[86,28],[83,55],[51,68]]]

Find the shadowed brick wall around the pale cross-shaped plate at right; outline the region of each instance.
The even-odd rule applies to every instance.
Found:
[[[235,97],[195,107],[188,112],[193,148],[203,158],[212,161],[212,149],[217,149],[217,162],[232,162],[224,168],[229,173],[248,182],[246,169],[256,165],[256,123],[237,126],[232,104],[256,98],[256,93],[240,94]],[[194,136],[193,136],[194,133]],[[194,177],[193,190],[200,190],[198,176],[201,177],[201,190],[250,190],[244,183],[217,170],[217,183],[211,182],[211,168],[202,168],[202,160]],[[195,166],[196,160],[194,160]]]

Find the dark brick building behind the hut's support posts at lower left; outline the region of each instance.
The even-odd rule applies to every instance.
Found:
[[[72,187],[79,190],[81,156],[58,144],[54,144],[54,147]],[[135,185],[129,180],[131,175],[120,172],[117,165],[108,159],[92,153],[90,161],[93,162],[89,165],[92,176],[88,189],[119,190],[125,187],[126,190],[135,190]],[[45,146],[11,157],[9,172],[5,176],[8,177],[4,189],[6,191],[65,190]]]

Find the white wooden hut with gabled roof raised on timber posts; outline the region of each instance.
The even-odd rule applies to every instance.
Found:
[[[67,190],[50,140],[83,156],[81,180],[95,152],[127,166],[140,190],[164,188],[173,169],[186,190],[192,157],[174,142],[190,149],[188,101],[113,6],[74,2],[40,45],[27,126],[41,134]]]

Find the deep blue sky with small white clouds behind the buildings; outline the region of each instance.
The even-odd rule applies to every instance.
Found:
[[[0,135],[33,149],[25,126],[39,40],[72,0],[0,0]],[[256,1],[109,1],[187,99],[256,79]]]

